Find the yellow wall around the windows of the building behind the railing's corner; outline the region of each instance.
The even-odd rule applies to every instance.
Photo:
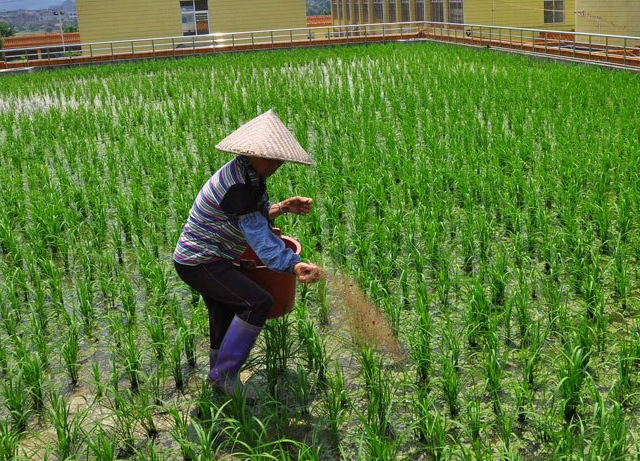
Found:
[[[362,15],[359,23],[373,21],[373,0],[362,0],[369,3],[369,20],[363,21]],[[579,0],[565,0],[565,22],[562,24],[545,24],[544,23],[544,0],[463,0],[464,22],[467,24],[484,24],[496,26],[511,27],[530,27],[536,29],[551,30],[572,30],[575,28],[574,10],[575,2]],[[637,1],[640,0],[628,0]],[[598,0],[593,0],[597,3]],[[347,4],[349,8],[347,8]],[[347,11],[353,8],[354,0],[332,0],[331,8],[334,24],[350,24],[347,17]],[[396,18],[401,18],[402,1],[396,0]],[[449,0],[444,0],[444,20],[447,22],[449,17]],[[362,8],[360,6],[360,8]],[[337,9],[337,11],[336,11]],[[343,20],[340,21],[340,9],[342,9]],[[411,20],[422,20],[416,18],[416,0],[410,0]],[[389,0],[384,0],[385,20],[389,18]],[[427,20],[431,20],[431,1],[425,0],[425,11]]]

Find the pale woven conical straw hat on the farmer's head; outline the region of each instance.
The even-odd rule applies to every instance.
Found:
[[[216,149],[248,157],[313,164],[309,154],[271,109],[224,138]]]

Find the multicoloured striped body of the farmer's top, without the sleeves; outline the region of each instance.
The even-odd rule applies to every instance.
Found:
[[[209,178],[198,193],[178,239],[173,252],[176,262],[195,266],[219,259],[237,259],[244,252],[248,244],[238,225],[238,216],[225,213],[221,203],[231,186],[247,183],[264,187],[264,179],[242,156]],[[266,188],[257,205],[266,217],[270,206]]]

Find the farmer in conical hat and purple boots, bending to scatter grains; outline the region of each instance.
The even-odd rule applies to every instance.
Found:
[[[200,190],[173,259],[180,278],[202,295],[209,311],[209,380],[223,393],[233,395],[244,391],[239,371],[273,299],[238,272],[232,261],[248,245],[269,269],[293,273],[303,283],[320,278],[316,265],[301,262],[271,231],[278,216],[308,214],[312,200],[291,197],[272,204],[265,181],[284,162],[313,162],[271,110],[240,127],[216,148],[238,157]]]

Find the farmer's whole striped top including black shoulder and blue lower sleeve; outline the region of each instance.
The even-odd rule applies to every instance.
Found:
[[[270,205],[264,179],[246,157],[234,158],[198,193],[173,259],[190,266],[233,260],[250,245],[270,269],[292,271],[300,258],[271,232]]]

